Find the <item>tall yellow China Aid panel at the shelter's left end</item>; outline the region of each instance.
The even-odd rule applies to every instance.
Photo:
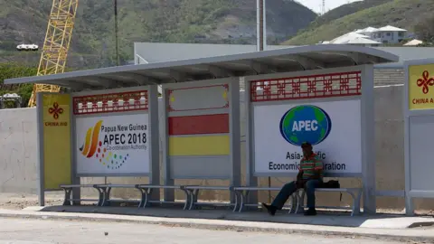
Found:
[[[71,96],[42,95],[44,189],[71,184]]]

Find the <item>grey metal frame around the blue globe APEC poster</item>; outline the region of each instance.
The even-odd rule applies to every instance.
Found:
[[[248,187],[255,187],[258,185],[257,177],[261,176],[274,176],[274,177],[295,177],[297,174],[293,173],[277,173],[277,174],[261,174],[255,171],[254,162],[254,130],[253,130],[253,105],[250,101],[250,81],[252,80],[267,80],[278,79],[281,77],[297,77],[302,75],[316,75],[326,74],[342,71],[362,71],[362,95],[350,96],[350,97],[335,97],[327,99],[294,99],[278,102],[260,102],[263,104],[291,104],[300,101],[314,102],[314,101],[336,101],[336,100],[350,100],[357,99],[361,101],[361,138],[362,138],[362,172],[360,174],[327,174],[328,177],[362,177],[363,178],[363,211],[366,213],[375,213],[375,161],[374,161],[374,115],[373,115],[373,65],[361,65],[349,68],[339,69],[326,69],[326,70],[309,70],[301,72],[289,72],[270,75],[261,75],[245,78],[245,109],[247,113],[246,117],[246,184]],[[257,195],[250,195],[249,202],[258,202]]]

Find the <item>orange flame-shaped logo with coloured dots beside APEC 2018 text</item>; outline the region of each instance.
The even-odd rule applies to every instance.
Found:
[[[111,151],[105,145],[103,145],[103,143],[99,140],[102,122],[102,120],[99,120],[94,127],[90,127],[88,129],[84,143],[79,149],[81,155],[87,158],[95,157],[103,166],[107,167],[108,169],[115,170],[126,163],[129,154],[118,154],[117,151]]]

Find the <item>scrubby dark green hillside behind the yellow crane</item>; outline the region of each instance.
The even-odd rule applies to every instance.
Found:
[[[288,40],[316,14],[288,0],[268,1],[269,40]],[[17,44],[42,46],[52,0],[2,0],[0,62],[37,65],[40,53],[15,52]],[[114,64],[112,0],[80,0],[68,66]],[[133,60],[133,42],[256,42],[256,0],[118,0],[122,61]]]

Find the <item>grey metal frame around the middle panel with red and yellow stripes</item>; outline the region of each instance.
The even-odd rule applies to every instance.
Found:
[[[230,180],[231,185],[240,185],[241,184],[241,128],[240,128],[240,82],[238,78],[225,78],[225,79],[216,79],[216,80],[202,80],[196,82],[184,82],[184,83],[171,83],[164,84],[162,87],[163,90],[163,99],[162,106],[163,109],[163,119],[160,121],[161,129],[163,130],[162,137],[162,151],[163,151],[163,182],[165,185],[174,185],[175,183],[175,175],[171,175],[171,162],[169,159],[168,153],[168,123],[167,119],[169,117],[169,112],[167,111],[167,89],[184,89],[190,87],[200,87],[216,85],[216,84],[228,84],[229,85],[229,116],[230,116],[230,148],[231,153],[229,155],[231,170],[228,172],[229,177],[197,177],[197,176],[189,176],[184,175],[181,178],[176,179],[224,179]],[[209,189],[210,190],[210,189]],[[218,190],[218,189],[217,189]],[[234,196],[232,195],[232,199]],[[165,202],[173,202],[175,199],[174,190],[173,189],[165,189]]]

